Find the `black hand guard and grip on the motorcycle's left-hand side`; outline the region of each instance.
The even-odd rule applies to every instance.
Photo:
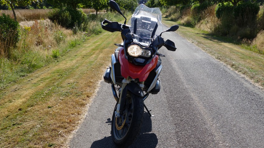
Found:
[[[104,25],[106,24],[106,25]],[[121,24],[121,23],[118,23],[118,22],[111,22],[107,19],[105,19],[104,21],[102,21],[101,23],[101,27],[106,30],[106,31],[109,31],[109,32],[116,32],[116,31],[120,31],[122,32],[124,29],[128,29],[129,26],[128,25],[125,25],[125,24]]]

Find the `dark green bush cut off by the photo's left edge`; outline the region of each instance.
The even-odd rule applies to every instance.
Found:
[[[19,23],[4,13],[0,16],[0,55],[11,56],[11,48],[16,46],[20,39]]]

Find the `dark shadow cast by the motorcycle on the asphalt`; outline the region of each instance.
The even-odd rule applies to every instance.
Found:
[[[111,123],[109,120],[106,123]],[[141,130],[137,139],[132,143],[130,148],[140,148],[140,147],[148,147],[154,148],[158,144],[158,138],[155,133],[149,133],[152,131],[152,121],[151,117],[147,112],[144,112],[143,115],[143,124],[141,126]],[[91,148],[116,148],[117,146],[112,140],[112,137],[104,137],[101,140],[94,141],[91,145]]]

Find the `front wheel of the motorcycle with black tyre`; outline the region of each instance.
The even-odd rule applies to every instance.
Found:
[[[115,116],[116,108],[117,103],[112,116],[112,138],[117,146],[127,147],[132,144],[140,131],[144,111],[142,97],[127,91],[120,118]]]

